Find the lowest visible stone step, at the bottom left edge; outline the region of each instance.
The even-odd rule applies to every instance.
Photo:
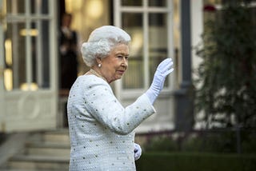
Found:
[[[69,160],[69,157],[17,155],[10,158],[8,168],[66,171],[69,169]]]

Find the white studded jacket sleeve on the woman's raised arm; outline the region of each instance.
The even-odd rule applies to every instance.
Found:
[[[115,133],[131,133],[142,121],[155,113],[146,94],[124,108],[106,82],[92,82],[84,91],[85,108],[96,120]]]

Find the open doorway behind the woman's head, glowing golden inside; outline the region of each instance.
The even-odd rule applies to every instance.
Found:
[[[112,0],[58,0],[59,3],[59,126],[66,128],[68,126],[66,117],[66,102],[69,90],[74,80],[82,74],[85,74],[89,68],[82,60],[80,47],[82,42],[86,42],[91,31],[99,26],[113,25],[113,1]],[[70,19],[69,30],[73,33],[73,40],[70,39],[70,46],[73,46],[73,52],[67,54],[62,48],[66,42],[63,38],[63,16],[68,15]],[[72,36],[71,36],[72,37]],[[75,38],[74,38],[75,37]],[[64,44],[63,44],[64,43]],[[70,65],[71,64],[71,65]],[[76,75],[72,76],[76,70]],[[66,77],[71,78],[67,79]]]

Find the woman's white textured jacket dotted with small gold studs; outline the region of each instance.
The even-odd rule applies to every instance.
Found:
[[[136,170],[134,129],[154,112],[146,94],[124,108],[102,78],[78,77],[67,104],[70,171]]]

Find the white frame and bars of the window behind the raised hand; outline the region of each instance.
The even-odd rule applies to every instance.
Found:
[[[156,7],[149,6],[149,0],[143,0],[142,6],[122,6],[122,0],[114,0],[114,26],[122,28],[122,13],[139,13],[142,14],[142,32],[143,32],[143,50],[142,50],[142,61],[144,68],[143,77],[143,88],[142,89],[124,89],[122,81],[118,80],[115,82],[115,93],[119,99],[132,99],[138,97],[150,86],[150,52],[149,52],[149,14],[166,14],[167,23],[167,57],[172,57],[174,60],[174,30],[173,30],[173,1],[166,0],[166,6]],[[167,58],[166,57],[166,58]],[[132,57],[131,57],[132,58]],[[162,96],[169,96],[174,90],[174,75],[170,74],[168,79],[168,87],[162,90]]]

